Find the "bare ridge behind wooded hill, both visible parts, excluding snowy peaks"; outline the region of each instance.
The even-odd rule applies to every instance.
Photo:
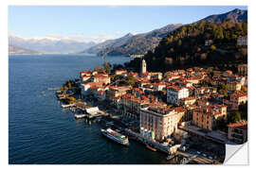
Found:
[[[210,15],[200,21],[209,21],[212,23],[223,22],[230,19],[233,23],[240,21],[247,22],[247,10],[235,8],[223,14]],[[197,23],[197,22],[196,22]],[[82,52],[94,53],[99,56],[129,56],[135,54],[146,54],[149,50],[155,50],[160,40],[174,29],[182,26],[181,24],[168,25],[148,33],[132,35],[131,33],[116,40],[99,43]]]

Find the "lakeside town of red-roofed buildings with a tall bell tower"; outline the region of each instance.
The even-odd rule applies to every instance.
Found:
[[[128,133],[186,150],[247,142],[247,64],[237,73],[213,67],[152,73],[141,59],[140,73],[109,66],[82,71],[80,87],[82,100],[115,112]]]

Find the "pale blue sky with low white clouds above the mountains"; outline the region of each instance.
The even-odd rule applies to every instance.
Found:
[[[9,35],[103,42],[246,6],[9,6]]]

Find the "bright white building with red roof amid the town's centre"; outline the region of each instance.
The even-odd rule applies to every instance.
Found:
[[[167,88],[167,102],[178,104],[181,98],[187,98],[190,95],[189,89],[170,86]]]

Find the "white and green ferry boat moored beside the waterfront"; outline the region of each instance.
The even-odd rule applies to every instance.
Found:
[[[125,146],[129,145],[128,137],[125,137],[124,135],[118,133],[117,131],[111,128],[101,129],[101,133],[102,135],[104,135],[105,137],[111,139],[116,143],[123,144]]]

